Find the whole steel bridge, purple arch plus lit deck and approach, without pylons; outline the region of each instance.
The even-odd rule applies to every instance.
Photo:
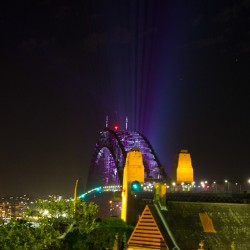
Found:
[[[115,206],[117,206],[116,202],[121,203],[121,186],[127,153],[134,148],[139,149],[142,153],[144,165],[143,192],[138,195],[137,199],[142,204],[151,202],[155,183],[162,182],[171,185],[171,180],[157,158],[154,149],[142,133],[105,128],[100,132],[95,144],[86,190],[80,196],[86,201],[94,201],[100,205],[100,218],[120,215],[121,204],[118,208]],[[218,189],[219,186],[218,188],[216,186],[215,189],[213,187],[192,186],[190,190],[181,185],[178,189],[174,187],[174,190],[172,187],[167,188],[167,201],[244,203],[245,200],[249,200],[247,193],[229,193],[229,190],[225,191],[224,186],[221,190]],[[107,203],[110,200],[114,202]],[[111,211],[111,209],[113,210]]]

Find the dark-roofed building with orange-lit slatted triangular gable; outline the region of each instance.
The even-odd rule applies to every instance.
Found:
[[[127,249],[248,250],[250,204],[176,201],[164,207],[149,204]]]

